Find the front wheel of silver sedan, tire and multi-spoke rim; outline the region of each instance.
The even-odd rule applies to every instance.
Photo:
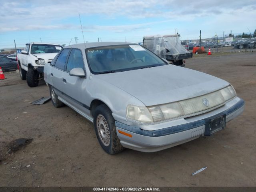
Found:
[[[108,106],[101,104],[95,108],[93,123],[100,146],[105,152],[117,154],[124,150],[116,134],[115,120]]]

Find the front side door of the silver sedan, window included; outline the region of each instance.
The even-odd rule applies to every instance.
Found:
[[[66,100],[68,103],[72,104],[73,108],[90,116],[90,103],[87,99],[88,92],[86,90],[88,81],[86,78],[70,76],[69,72],[73,68],[85,69],[84,59],[80,49],[73,48],[68,56],[68,61],[65,67],[66,73],[63,74],[63,92],[66,96]]]

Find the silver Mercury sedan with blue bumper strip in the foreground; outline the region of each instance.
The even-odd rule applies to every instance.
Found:
[[[108,154],[155,152],[210,136],[244,110],[230,83],[132,43],[66,46],[45,64],[44,80],[52,104],[93,122]]]

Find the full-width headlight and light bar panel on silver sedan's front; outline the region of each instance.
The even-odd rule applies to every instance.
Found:
[[[224,104],[226,101],[234,98],[235,96],[236,92],[230,85],[226,88],[211,92],[206,95],[168,104],[148,107],[134,106],[129,104],[126,108],[126,113],[129,119],[136,120],[138,122],[158,122],[197,113],[204,110],[214,109],[214,107]],[[207,98],[208,105],[202,102],[202,100],[205,98]]]

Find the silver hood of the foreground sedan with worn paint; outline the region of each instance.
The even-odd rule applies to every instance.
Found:
[[[229,85],[214,76],[173,65],[96,75],[146,106],[201,96]]]

